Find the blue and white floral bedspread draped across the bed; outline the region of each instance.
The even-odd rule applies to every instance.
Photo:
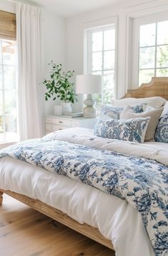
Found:
[[[168,166],[66,141],[31,140],[0,151],[125,199],[142,214],[155,255],[168,255]]]

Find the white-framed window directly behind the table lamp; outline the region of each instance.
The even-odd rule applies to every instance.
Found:
[[[94,95],[96,105],[111,103],[115,86],[114,24],[87,31],[87,73],[103,76],[102,95]]]

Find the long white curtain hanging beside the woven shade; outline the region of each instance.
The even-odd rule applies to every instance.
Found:
[[[16,4],[20,140],[41,136],[41,9]]]

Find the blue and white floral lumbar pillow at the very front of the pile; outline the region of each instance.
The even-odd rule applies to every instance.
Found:
[[[99,118],[94,126],[94,135],[102,138],[114,138],[120,141],[143,143],[149,119],[115,120],[108,116]]]

